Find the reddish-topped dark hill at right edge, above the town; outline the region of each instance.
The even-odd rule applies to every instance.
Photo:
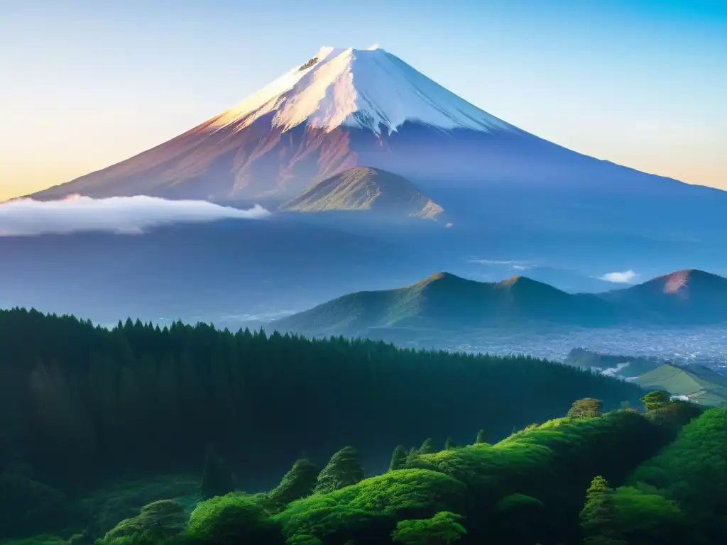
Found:
[[[601,294],[603,299],[695,323],[722,320],[727,309],[727,278],[703,270],[680,270],[648,282]]]

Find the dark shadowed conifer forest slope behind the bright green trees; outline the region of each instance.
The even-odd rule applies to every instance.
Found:
[[[66,491],[196,472],[208,443],[246,489],[344,444],[376,472],[398,443],[467,444],[481,428],[499,440],[582,397],[616,408],[643,393],[534,358],[0,311],[0,473],[29,468]]]

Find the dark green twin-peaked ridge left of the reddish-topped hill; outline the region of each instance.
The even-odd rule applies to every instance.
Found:
[[[590,295],[571,295],[515,276],[497,283],[438,273],[386,291],[360,291],[288,318],[281,330],[363,335],[371,328],[479,328],[525,322],[611,323],[619,309]]]

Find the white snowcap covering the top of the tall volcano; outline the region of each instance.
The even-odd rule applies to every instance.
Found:
[[[332,131],[338,126],[395,131],[404,121],[440,129],[517,130],[457,97],[384,49],[321,48],[214,120],[243,129],[272,114],[284,131],[302,123]]]

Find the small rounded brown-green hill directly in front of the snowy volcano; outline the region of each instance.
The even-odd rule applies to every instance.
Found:
[[[443,209],[408,179],[367,166],[343,171],[305,190],[281,210],[370,210],[393,217],[435,219]]]

